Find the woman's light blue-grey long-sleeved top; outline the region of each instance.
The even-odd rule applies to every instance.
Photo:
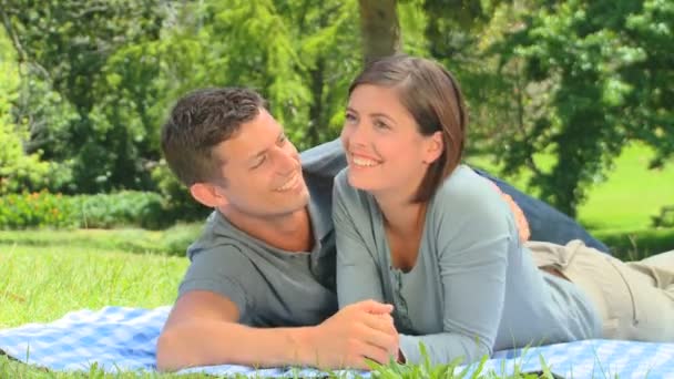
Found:
[[[347,168],[348,170],[348,168]],[[494,350],[601,336],[601,319],[572,283],[541,272],[521,245],[508,204],[459,166],[430,199],[413,268],[391,265],[375,198],[335,182],[339,307],[364,299],[395,306],[400,349],[419,362],[479,360]]]

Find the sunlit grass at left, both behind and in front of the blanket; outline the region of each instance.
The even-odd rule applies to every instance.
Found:
[[[48,322],[83,308],[172,304],[187,259],[115,248],[121,235],[133,235],[140,246],[152,242],[152,233],[132,232],[0,232],[0,328]],[[0,356],[0,378],[102,377],[112,376],[95,367],[84,373],[50,372]]]

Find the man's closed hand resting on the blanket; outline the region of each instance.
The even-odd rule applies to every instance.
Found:
[[[313,329],[309,354],[323,369],[369,369],[366,359],[386,365],[398,357],[399,336],[390,313],[375,300],[351,304]],[[309,358],[309,357],[307,357]]]

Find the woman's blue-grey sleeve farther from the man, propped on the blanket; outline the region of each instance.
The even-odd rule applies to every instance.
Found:
[[[472,181],[469,181],[469,184]],[[506,298],[513,228],[499,196],[481,183],[439,190],[432,226],[443,294],[443,332],[401,336],[407,359],[419,362],[419,342],[431,362],[476,361],[492,354]],[[464,362],[466,362],[464,360]]]

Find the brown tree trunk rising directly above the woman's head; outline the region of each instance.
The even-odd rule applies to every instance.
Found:
[[[365,62],[400,51],[396,0],[358,0]]]

